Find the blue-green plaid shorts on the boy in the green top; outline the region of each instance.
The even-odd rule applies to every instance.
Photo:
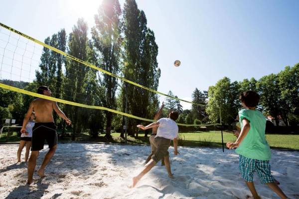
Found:
[[[255,160],[239,155],[239,169],[242,178],[247,182],[253,182],[253,173],[257,171],[261,183],[273,183],[269,160]]]

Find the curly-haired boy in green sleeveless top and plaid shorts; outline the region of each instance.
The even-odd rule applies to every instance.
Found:
[[[237,148],[239,169],[253,199],[260,199],[253,184],[254,171],[258,173],[262,183],[268,185],[280,198],[287,199],[271,175],[271,150],[265,137],[266,118],[262,112],[255,109],[260,96],[256,92],[246,91],[240,95],[240,100],[246,108],[239,111],[240,136],[236,142],[228,142],[226,146],[229,149]]]

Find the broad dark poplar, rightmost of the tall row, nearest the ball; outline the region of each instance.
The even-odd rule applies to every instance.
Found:
[[[158,47],[152,30],[147,27],[147,18],[139,10],[135,0],[126,0],[124,5],[124,65],[122,73],[126,79],[156,90],[160,70],[157,66]],[[140,117],[153,117],[158,109],[157,95],[148,90],[128,85],[128,107],[131,114]],[[123,108],[125,104],[122,90]],[[133,135],[135,119],[129,120],[128,131]],[[124,122],[123,122],[124,123]],[[138,136],[138,133],[136,134]],[[147,136],[147,135],[145,135]]]

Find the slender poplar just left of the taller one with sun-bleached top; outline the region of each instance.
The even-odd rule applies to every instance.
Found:
[[[88,38],[87,38],[87,23],[80,18],[77,25],[74,25],[73,31],[69,36],[68,41],[68,53],[74,57],[86,61],[88,59]],[[65,100],[75,101],[78,103],[85,103],[84,98],[85,89],[83,88],[85,75],[87,73],[86,66],[67,59],[65,65],[65,81],[64,81],[64,94]],[[75,135],[82,131],[82,108],[78,106],[66,105],[65,111],[67,115],[70,115],[73,121],[73,134],[72,139],[75,139]]]

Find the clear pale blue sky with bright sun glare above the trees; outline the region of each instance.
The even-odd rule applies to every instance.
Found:
[[[93,27],[101,1],[1,0],[0,22],[44,41],[61,28],[70,33],[79,17]],[[159,48],[159,92],[191,100],[195,88],[223,77],[260,79],[299,63],[298,0],[136,1]]]

